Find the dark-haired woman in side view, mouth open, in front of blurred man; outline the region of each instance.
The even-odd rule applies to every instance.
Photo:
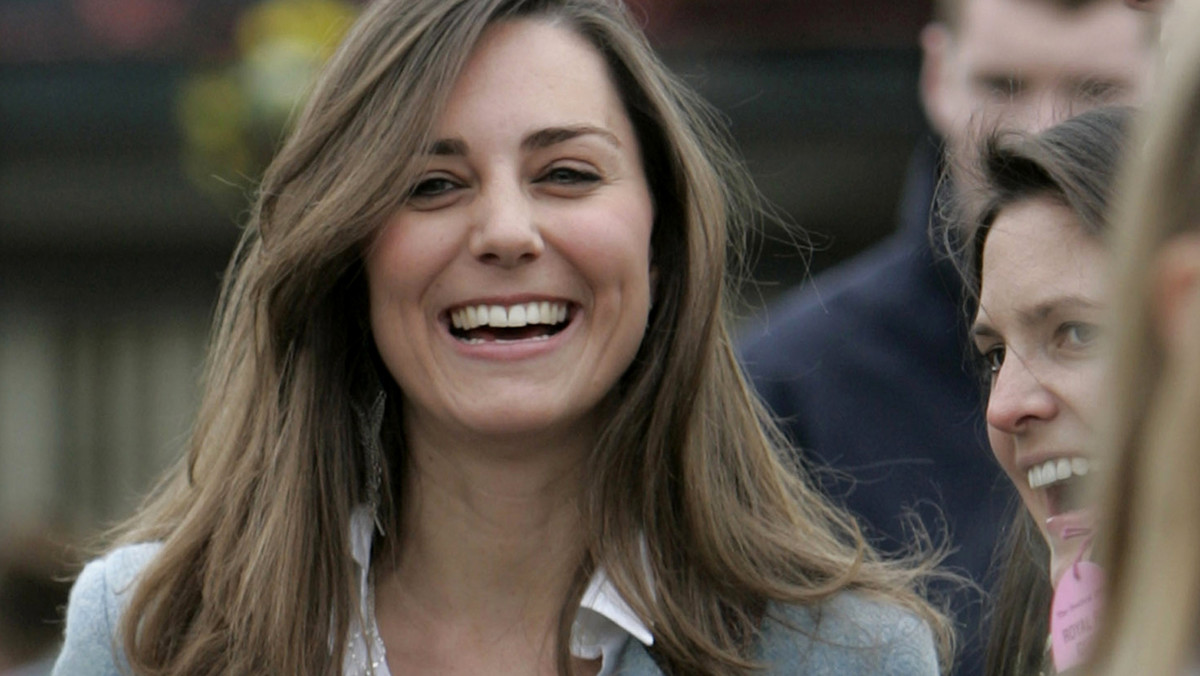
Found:
[[[1050,597],[1090,556],[1080,479],[1102,408],[1104,232],[1129,116],[1100,108],[1038,134],[989,138],[947,232],[974,303],[988,439],[1021,499],[991,614],[992,676],[1074,664],[1058,651],[1051,665]]]

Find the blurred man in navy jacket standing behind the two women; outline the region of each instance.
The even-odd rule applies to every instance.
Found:
[[[1154,64],[1147,14],[1122,0],[947,0],[937,12],[920,36],[920,98],[952,155],[979,130],[1136,102]],[[742,347],[792,441],[838,469],[826,487],[877,542],[908,539],[905,510],[935,532],[944,514],[948,566],[986,584],[1010,490],[986,445],[962,288],[930,244],[937,146],[913,157],[896,233],[792,292]],[[967,596],[954,608],[965,676],[982,652],[982,600]]]

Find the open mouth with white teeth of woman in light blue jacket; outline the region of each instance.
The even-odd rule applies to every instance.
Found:
[[[468,305],[450,315],[450,335],[469,343],[548,340],[571,323],[566,303],[518,303],[516,305]]]

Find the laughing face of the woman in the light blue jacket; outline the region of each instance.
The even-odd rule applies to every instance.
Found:
[[[409,433],[593,433],[646,330],[654,221],[604,59],[565,28],[494,24],[433,138],[366,256]]]

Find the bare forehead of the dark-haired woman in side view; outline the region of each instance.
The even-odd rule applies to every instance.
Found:
[[[980,306],[989,315],[1064,294],[1096,298],[1108,264],[1103,243],[1061,202],[1034,197],[1004,208],[984,240]]]

